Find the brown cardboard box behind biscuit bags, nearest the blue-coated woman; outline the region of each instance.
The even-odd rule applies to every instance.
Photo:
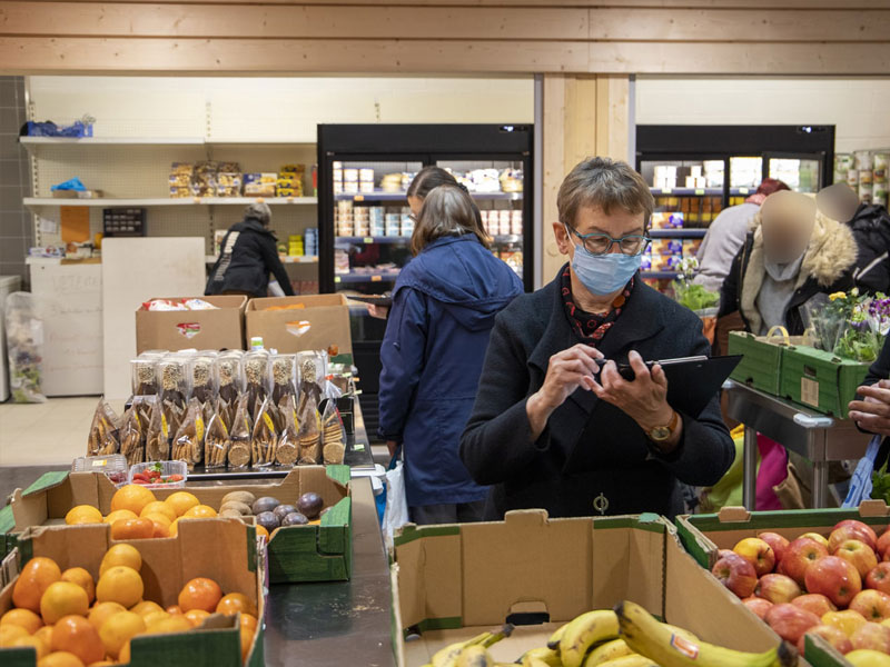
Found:
[[[296,305],[304,308],[284,309]],[[336,345],[339,354],[353,351],[349,307],[343,295],[250,299],[246,319],[247,340],[259,336],[266,349],[291,354],[326,350]]]

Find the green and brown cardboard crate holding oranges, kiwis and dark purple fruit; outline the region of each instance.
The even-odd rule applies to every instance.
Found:
[[[22,532],[32,526],[65,524],[65,515],[78,505],[98,507],[102,515],[111,509],[115,485],[101,474],[50,472],[27,490],[12,497],[12,527]],[[176,491],[194,494],[204,505],[218,510],[222,497],[230,491],[250,491],[257,498],[271,496],[281,502],[296,504],[300,495],[314,491],[325,507],[333,509],[317,526],[287,526],[270,537],[268,545],[270,583],[347,580],[352,571],[353,528],[352,491],[348,466],[301,466],[283,480],[263,485],[186,486],[176,489],[152,489],[158,500]],[[188,522],[188,521],[185,521]]]

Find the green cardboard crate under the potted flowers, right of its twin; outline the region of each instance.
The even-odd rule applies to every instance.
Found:
[[[802,406],[847,418],[847,405],[866,379],[870,364],[843,359],[811,347],[792,346],[782,356],[782,391]]]

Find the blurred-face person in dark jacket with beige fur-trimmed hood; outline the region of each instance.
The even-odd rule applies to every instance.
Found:
[[[856,258],[850,229],[818,211],[812,197],[770,195],[723,282],[719,318],[738,313],[746,331],[782,326],[801,336],[803,306],[853,287]]]

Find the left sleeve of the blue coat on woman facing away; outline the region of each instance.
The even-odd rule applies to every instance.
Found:
[[[380,346],[379,435],[402,441],[415,390],[424,368],[427,308],[423,292],[396,291]]]

